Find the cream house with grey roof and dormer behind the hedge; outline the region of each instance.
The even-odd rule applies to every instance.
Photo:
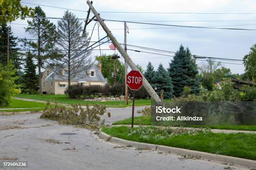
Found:
[[[67,69],[59,70],[50,82],[46,82],[46,77],[53,70],[50,67],[46,67],[41,80],[42,83],[42,93],[43,94],[64,94],[64,90],[68,86],[67,79]],[[71,80],[71,85],[81,84],[81,85],[105,85],[105,78],[101,73],[101,64],[93,65],[87,70],[83,70],[78,76],[75,76]]]

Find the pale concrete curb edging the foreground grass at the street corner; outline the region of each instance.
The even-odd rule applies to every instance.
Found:
[[[133,142],[130,140],[111,137],[110,135],[102,132],[101,129],[100,129],[99,136],[106,141],[116,143],[119,145],[131,145],[134,147],[151,148],[152,150],[156,150],[156,151],[163,151],[166,153],[174,153],[174,154],[180,154],[180,155],[194,155],[196,157],[200,157],[203,160],[210,160],[210,161],[222,163],[222,164],[223,163],[234,164],[235,166],[241,166],[245,168],[254,168],[256,166],[255,160],[248,160],[248,159],[236,158],[236,157],[225,156],[225,155],[216,155],[212,153],[205,153],[205,152],[187,150],[182,148],[174,148],[174,147],[163,146],[163,145],[153,145],[148,143]]]

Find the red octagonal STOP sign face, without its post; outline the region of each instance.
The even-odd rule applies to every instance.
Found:
[[[126,84],[131,90],[139,90],[143,84],[143,77],[139,71],[131,70],[126,75]]]

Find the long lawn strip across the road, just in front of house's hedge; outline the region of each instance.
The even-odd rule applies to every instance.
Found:
[[[43,100],[43,101],[51,101],[54,99],[58,103],[64,103],[64,104],[79,104],[86,105],[87,103],[89,105],[94,104],[104,104],[108,107],[127,107],[132,105],[132,101],[129,100],[129,104],[125,105],[125,101],[84,101],[84,100],[76,100],[76,99],[70,99],[66,95],[29,95],[29,94],[17,94],[15,97],[21,97],[21,98],[27,98],[27,99],[35,99],[35,100]],[[141,100],[135,100],[136,106],[141,105],[151,105],[150,99],[141,99]]]

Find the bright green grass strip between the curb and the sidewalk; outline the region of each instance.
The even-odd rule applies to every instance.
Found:
[[[138,130],[138,128],[132,129]],[[146,127],[145,129],[144,132],[147,133],[144,135],[139,133],[131,133],[128,135],[131,132],[131,128],[124,126],[102,128],[102,131],[108,135],[125,140],[256,160],[256,135],[254,134],[200,132],[197,134],[182,133],[178,135],[171,135],[170,133],[170,136],[166,136],[166,132],[163,133],[164,131],[161,132],[154,127]],[[156,133],[156,131],[158,133]],[[138,130],[138,132],[140,132],[140,130]],[[162,138],[159,138],[160,136]]]

